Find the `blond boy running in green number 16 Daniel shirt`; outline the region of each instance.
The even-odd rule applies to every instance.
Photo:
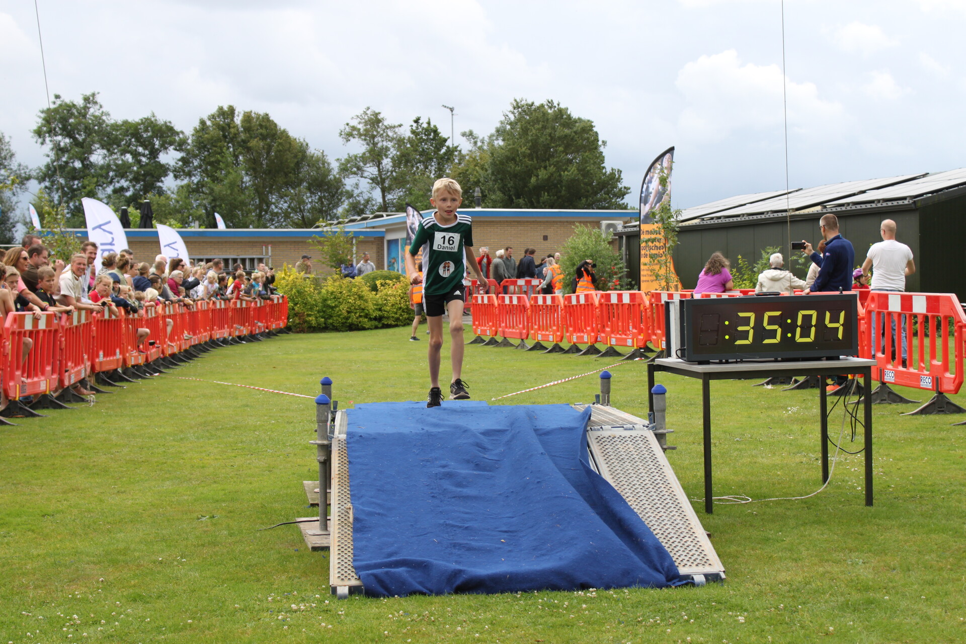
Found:
[[[423,308],[429,324],[429,390],[428,407],[442,404],[440,389],[440,349],[442,348],[442,314],[449,314],[449,337],[452,347],[449,358],[453,379],[449,398],[462,401],[469,398],[467,383],[460,376],[463,370],[463,303],[466,298],[463,275],[469,266],[476,273],[479,284],[488,284],[473,253],[472,220],[456,209],[463,203],[463,189],[452,179],[440,179],[433,184],[430,203],[436,212],[425,217],[416,229],[412,245],[406,249],[406,272],[411,284],[423,285]],[[416,270],[415,255],[426,242],[428,257],[423,258],[423,276]]]

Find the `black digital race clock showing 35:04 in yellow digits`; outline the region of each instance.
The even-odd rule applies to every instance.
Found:
[[[858,353],[854,293],[696,298],[667,305],[668,357],[687,362]]]

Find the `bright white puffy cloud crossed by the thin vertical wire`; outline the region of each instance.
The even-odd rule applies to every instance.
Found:
[[[697,143],[724,140],[736,130],[768,130],[781,126],[781,69],[777,65],[742,65],[728,49],[701,56],[677,74],[676,85],[686,106],[678,118],[680,133]],[[787,81],[788,123],[813,131],[841,123],[843,110],[819,98],[814,83]]]

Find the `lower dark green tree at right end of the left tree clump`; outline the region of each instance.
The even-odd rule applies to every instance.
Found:
[[[283,193],[286,222],[293,228],[312,228],[319,222],[338,218],[346,200],[346,185],[321,150],[310,150],[304,141],[294,174],[294,182]]]

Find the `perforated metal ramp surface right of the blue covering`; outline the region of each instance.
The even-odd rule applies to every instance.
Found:
[[[681,574],[724,578],[721,559],[655,435],[644,429],[604,429],[635,425],[646,422],[620,409],[590,406],[587,445],[598,471],[668,549]]]

